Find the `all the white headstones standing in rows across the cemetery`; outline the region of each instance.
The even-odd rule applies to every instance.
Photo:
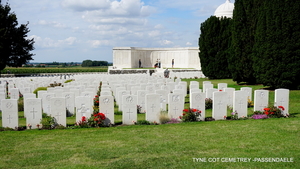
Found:
[[[46,78],[46,77],[45,77]],[[66,110],[71,114],[76,112],[76,122],[82,116],[91,117],[93,99],[102,82],[99,96],[100,112],[107,117],[106,124],[114,124],[114,100],[122,111],[122,123],[134,124],[137,121],[137,105],[146,113],[146,120],[159,123],[161,111],[168,110],[170,118],[179,119],[184,109],[187,96],[187,82],[180,79],[151,77],[149,75],[78,75],[75,81],[65,83],[64,87],[48,88],[39,91],[38,98],[31,91],[26,91],[27,85],[38,85],[42,81],[59,81],[55,78],[15,78],[9,79],[8,92],[10,99],[5,99],[6,86],[0,84],[0,99],[2,110],[2,126],[15,128],[18,126],[19,91],[24,95],[24,116],[28,127],[34,129],[40,125],[42,112],[55,117],[58,124],[66,126]],[[3,81],[3,80],[2,80]],[[7,80],[6,80],[7,81]],[[20,81],[22,83],[20,83]],[[13,84],[13,85],[12,85]],[[20,87],[23,85],[23,88]],[[205,92],[202,92],[205,91]],[[189,86],[190,108],[201,111],[200,120],[205,118],[205,99],[213,100],[212,117],[215,120],[227,116],[227,107],[232,107],[238,117],[247,117],[248,100],[252,100],[252,88],[243,87],[239,91],[228,88],[226,83],[219,83],[214,88],[210,81],[191,81]],[[283,114],[288,114],[289,90],[275,90],[276,106],[283,106]],[[254,111],[263,110],[269,104],[269,91],[254,91]]]

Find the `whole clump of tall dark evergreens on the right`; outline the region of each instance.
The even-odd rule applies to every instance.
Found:
[[[200,26],[203,73],[271,88],[300,89],[300,2],[236,0],[233,18]]]

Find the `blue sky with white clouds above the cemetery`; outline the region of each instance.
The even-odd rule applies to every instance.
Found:
[[[114,47],[197,47],[226,0],[2,0],[29,22],[30,62],[112,62]],[[231,0],[234,3],[233,0]]]

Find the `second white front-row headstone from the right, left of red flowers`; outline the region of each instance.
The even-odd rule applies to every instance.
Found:
[[[254,111],[263,111],[269,106],[269,91],[255,90],[254,91]]]

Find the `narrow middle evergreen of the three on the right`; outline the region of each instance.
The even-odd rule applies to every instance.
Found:
[[[233,29],[229,69],[234,81],[256,83],[252,50],[256,28],[253,0],[236,0],[233,11]]]

